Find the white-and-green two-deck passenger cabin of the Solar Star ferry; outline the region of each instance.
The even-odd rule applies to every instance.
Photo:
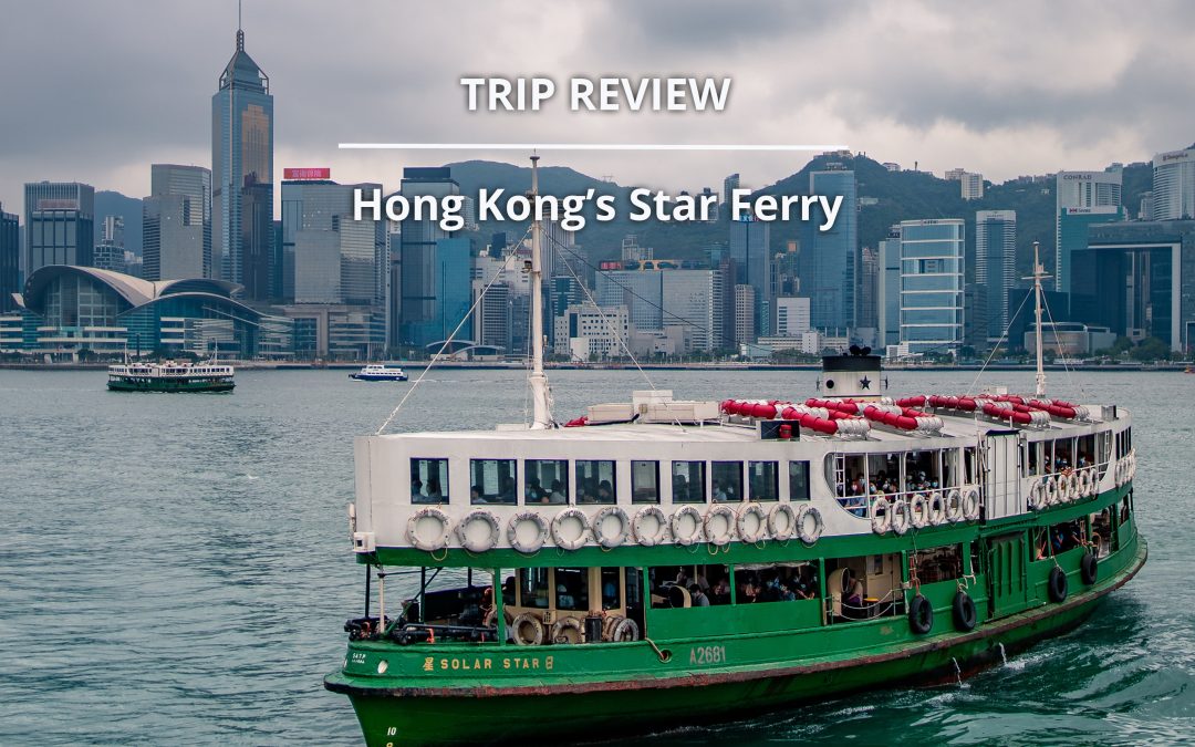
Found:
[[[933,433],[847,439],[750,417],[361,437],[358,558],[419,581],[349,629],[376,639],[381,613],[387,639],[466,650],[645,637],[694,665],[728,644],[735,663],[799,660],[832,630],[854,631],[844,650],[967,632],[1135,553],[1129,416],[1091,410],[1024,427],[943,409]],[[380,674],[384,651],[358,654],[347,673]]]

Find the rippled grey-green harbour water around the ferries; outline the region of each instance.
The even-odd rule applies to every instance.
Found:
[[[636,372],[550,375],[559,420],[646,387]],[[649,375],[713,399],[803,398],[816,376]],[[961,393],[974,373],[889,379],[893,392]],[[351,440],[410,382],[239,372],[232,394],[137,394],[104,381],[0,372],[0,743],[360,743],[348,700],[321,686],[362,605],[345,515]],[[985,384],[1031,391],[1032,374]],[[1052,375],[1053,396],[1133,410],[1150,541],[1144,571],[1077,631],[961,685],[744,712],[654,740],[1195,741],[1195,418],[1182,404],[1193,392],[1195,376],[1178,373]],[[433,372],[392,430],[490,428],[527,408],[517,372]]]

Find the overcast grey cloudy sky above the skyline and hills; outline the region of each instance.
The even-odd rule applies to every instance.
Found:
[[[145,196],[151,163],[210,167],[212,94],[235,0],[0,0],[0,202],[82,180]],[[331,166],[515,159],[344,152],[338,142],[846,143],[1004,180],[1146,160],[1195,141],[1195,4],[398,2],[246,0],[275,94],[275,178]],[[727,75],[723,114],[471,114],[462,75]],[[620,183],[764,186],[801,154],[549,153]]]

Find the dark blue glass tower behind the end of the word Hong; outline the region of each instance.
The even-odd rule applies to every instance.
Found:
[[[459,195],[460,186],[453,180],[451,169],[407,167],[403,170],[402,192],[407,200],[423,195],[440,200]],[[460,298],[468,299],[471,294],[472,265],[467,239],[464,251],[459,241],[443,243],[455,235],[430,219],[403,221],[398,253],[391,255],[390,329],[397,332],[390,341],[392,345],[425,348],[445,339],[446,326],[448,332],[456,326],[459,317],[451,322],[447,317],[455,313]],[[466,311],[468,306],[466,300]],[[466,335],[462,339],[467,338]]]

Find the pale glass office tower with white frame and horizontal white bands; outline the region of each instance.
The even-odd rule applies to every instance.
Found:
[[[949,353],[963,342],[962,219],[900,225],[900,341],[909,353]]]

